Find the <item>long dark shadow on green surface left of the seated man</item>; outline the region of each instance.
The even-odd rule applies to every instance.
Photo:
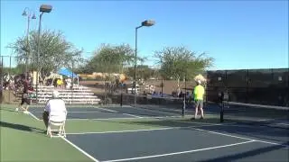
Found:
[[[10,129],[14,129],[14,130],[32,131],[32,132],[41,133],[41,134],[44,133],[44,131],[45,131],[45,130],[42,130],[42,129],[29,127],[29,126],[22,125],[22,124],[14,124],[14,123],[5,122],[5,121],[0,121],[0,126],[1,127],[6,127],[6,128],[10,128]]]

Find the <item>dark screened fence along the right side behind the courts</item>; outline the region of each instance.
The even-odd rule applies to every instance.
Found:
[[[208,71],[208,100],[218,102],[228,91],[229,101],[289,106],[288,68]]]

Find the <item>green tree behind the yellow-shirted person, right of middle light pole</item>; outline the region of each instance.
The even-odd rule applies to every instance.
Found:
[[[205,58],[205,53],[196,55],[185,47],[166,47],[154,53],[161,65],[161,75],[178,80],[178,87],[180,87],[180,79],[191,79],[212,65],[213,58]]]

